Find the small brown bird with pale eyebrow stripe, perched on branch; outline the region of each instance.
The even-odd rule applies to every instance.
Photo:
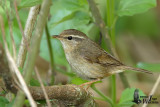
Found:
[[[67,29],[52,37],[62,43],[66,59],[73,71],[82,79],[90,81],[86,84],[92,84],[125,70],[152,74],[148,70],[123,64],[79,30]]]

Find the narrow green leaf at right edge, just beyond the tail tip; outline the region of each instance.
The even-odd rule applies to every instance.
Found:
[[[153,72],[160,72],[160,63],[151,64],[151,63],[142,63],[137,64],[138,68],[146,69]]]

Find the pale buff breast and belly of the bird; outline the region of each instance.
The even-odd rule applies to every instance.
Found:
[[[74,55],[71,53],[66,54],[66,58],[71,65],[74,72],[76,72],[83,79],[96,79],[104,77],[106,68],[95,63],[88,63],[87,60],[80,55]]]

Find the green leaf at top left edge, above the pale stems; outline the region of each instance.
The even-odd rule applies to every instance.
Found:
[[[25,7],[32,7],[35,5],[39,5],[42,3],[42,0],[22,0],[18,9],[25,8]]]

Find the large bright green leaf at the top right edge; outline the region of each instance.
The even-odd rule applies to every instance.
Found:
[[[118,16],[132,16],[156,6],[156,0],[120,0]]]

